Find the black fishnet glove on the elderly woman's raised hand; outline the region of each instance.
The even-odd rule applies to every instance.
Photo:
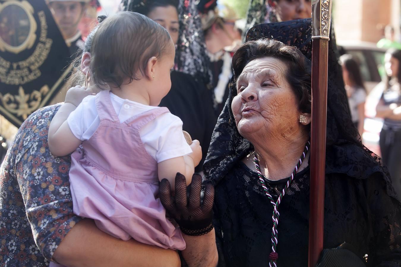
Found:
[[[192,182],[186,187],[184,175],[177,173],[175,178],[175,194],[170,190],[170,182],[162,179],[159,186],[160,201],[168,213],[178,223],[185,235],[205,235],[212,231],[213,200],[215,188],[205,183],[201,200],[202,177],[194,174]]]

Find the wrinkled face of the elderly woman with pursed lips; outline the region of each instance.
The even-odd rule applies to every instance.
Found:
[[[287,135],[299,129],[298,101],[286,72],[286,64],[273,57],[252,60],[243,69],[237,80],[238,94],[231,104],[243,137]]]

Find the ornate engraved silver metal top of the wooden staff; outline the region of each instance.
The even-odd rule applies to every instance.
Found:
[[[330,40],[333,0],[312,0],[312,39]]]

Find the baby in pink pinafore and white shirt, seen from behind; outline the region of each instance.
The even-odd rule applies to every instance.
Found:
[[[74,213],[114,237],[183,250],[157,198],[159,180],[174,189],[179,172],[189,184],[202,157],[198,141],[186,143],[180,118],[158,107],[171,87],[174,54],[168,32],[146,16],[106,18],[90,51],[93,86],[69,89],[51,121],[49,148],[55,156],[73,152]]]

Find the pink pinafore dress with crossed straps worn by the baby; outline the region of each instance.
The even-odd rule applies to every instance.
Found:
[[[158,194],[157,162],[139,131],[167,108],[120,123],[108,91],[96,96],[100,125],[73,153],[69,172],[74,213],[95,220],[114,237],[162,248],[185,249],[180,229],[166,219]]]

